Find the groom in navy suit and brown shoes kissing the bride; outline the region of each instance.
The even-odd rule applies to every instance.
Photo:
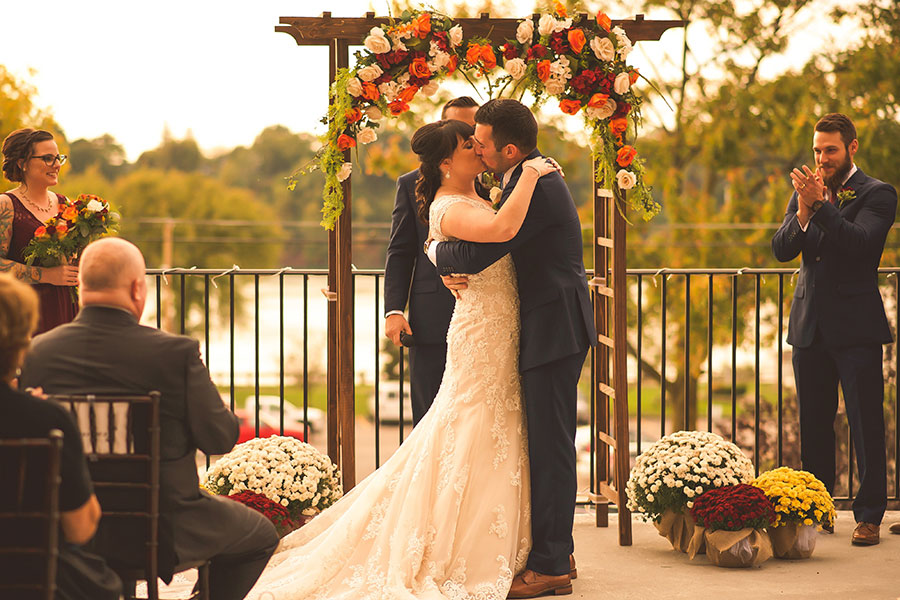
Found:
[[[540,156],[537,131],[534,115],[516,100],[490,100],[475,113],[475,151],[502,176],[501,203],[519,180],[522,161]],[[478,273],[507,253],[516,265],[533,547],[510,598],[572,593],[577,384],[588,348],[597,343],[581,239],[575,203],[553,173],[538,180],[525,222],[509,242],[440,242],[429,252],[451,290],[466,287],[455,273]]]

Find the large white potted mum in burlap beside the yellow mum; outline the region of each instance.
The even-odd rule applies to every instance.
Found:
[[[687,552],[694,500],[707,490],[752,479],[753,464],[735,444],[714,433],[679,431],[637,458],[626,486],[628,508],[652,520],[674,549]]]

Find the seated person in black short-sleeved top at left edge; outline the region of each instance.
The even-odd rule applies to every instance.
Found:
[[[63,432],[59,488],[60,552],[57,599],[119,598],[121,582],[102,559],[84,552],[97,531],[100,504],[94,495],[81,435],[61,406],[11,387],[38,320],[31,286],[0,274],[0,438],[47,437]]]

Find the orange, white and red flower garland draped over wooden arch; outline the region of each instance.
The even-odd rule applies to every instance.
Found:
[[[557,3],[555,14],[523,19],[515,39],[494,46],[485,38],[465,40],[462,27],[446,15],[408,10],[385,28],[373,27],[364,45],[356,65],[339,69],[330,89],[328,131],[316,165],[325,174],[327,229],[344,208],[341,184],[352,170],[344,151],[374,142],[382,119],[408,111],[417,94],[435,94],[438,82],[456,72],[470,82],[484,78],[491,96],[531,92],[535,105],[552,97],[566,114],[580,112],[596,180],[619,201],[619,190],[629,190],[627,204],[642,219],[659,212],[644,182],[643,161],[629,143],[641,123],[642,98],[633,87],[641,76],[625,62],[631,41],[604,13],[591,20],[568,17]]]

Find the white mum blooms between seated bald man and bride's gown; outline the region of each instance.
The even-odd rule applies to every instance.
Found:
[[[277,435],[236,446],[210,467],[203,487],[222,496],[257,492],[286,507],[292,518],[315,515],[344,494],[340,471],[327,455]]]

